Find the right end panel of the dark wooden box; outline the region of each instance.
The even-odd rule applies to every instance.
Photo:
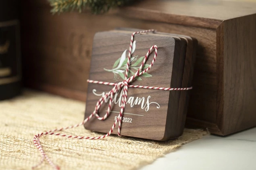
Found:
[[[223,134],[256,125],[256,14],[224,26]]]

